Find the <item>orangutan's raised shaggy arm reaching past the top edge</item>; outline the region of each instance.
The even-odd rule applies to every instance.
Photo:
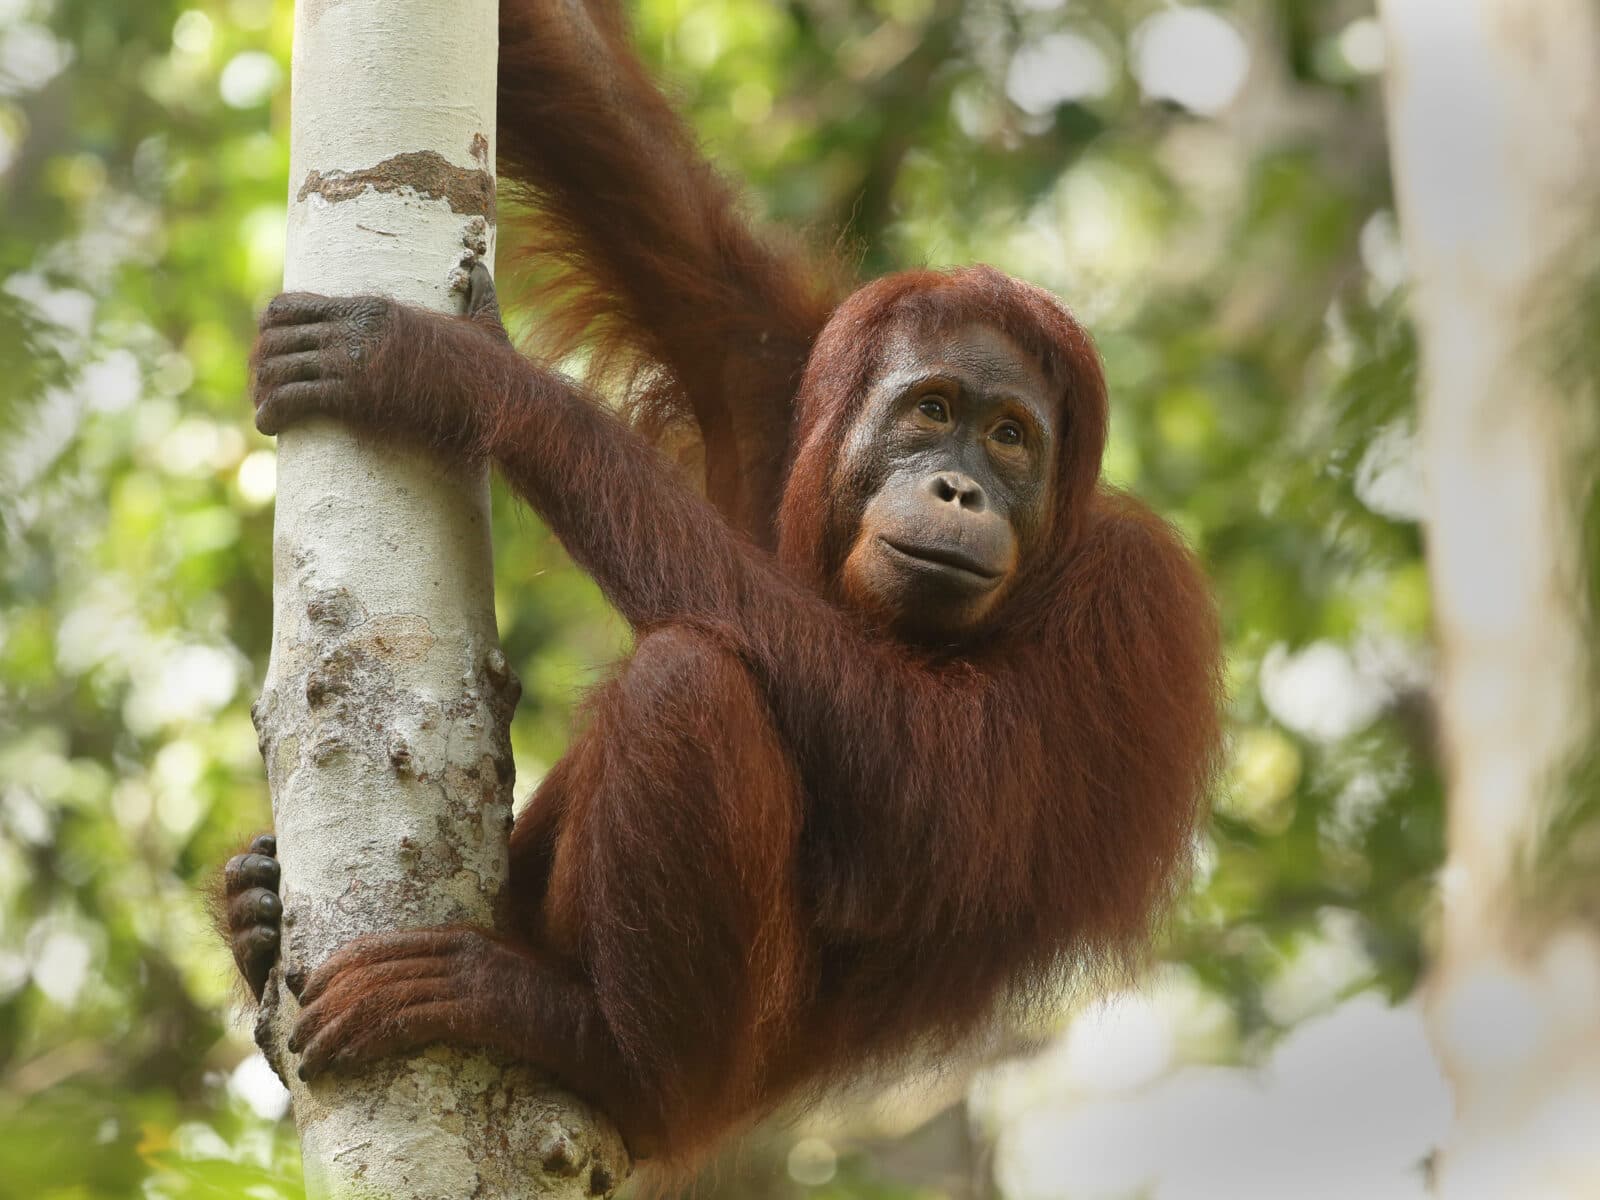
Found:
[[[845,272],[752,235],[610,0],[501,5],[499,112],[501,194],[538,210],[534,349],[582,346],[650,435],[698,424],[707,494],[771,546],[789,400]]]

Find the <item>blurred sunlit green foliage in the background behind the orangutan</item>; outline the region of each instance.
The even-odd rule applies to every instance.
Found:
[[[752,208],[845,229],[866,270],[995,262],[1094,328],[1107,470],[1194,539],[1229,637],[1234,765],[1171,938],[1237,1014],[1226,1058],[1416,978],[1442,843],[1416,355],[1378,88],[1342,50],[1365,6],[1240,6],[1256,70],[1216,117],[1141,94],[1158,8],[637,21]],[[270,0],[0,3],[0,1197],[296,1192],[288,1126],[232,1074],[250,1045],[198,896],[269,819],[272,448],[243,363],[282,267],[290,24]],[[1104,78],[1042,102],[1018,54],[1062,35]],[[501,493],[496,539],[526,790],[626,630]],[[1355,966],[1285,1000],[1334,925]],[[810,1194],[926,1194],[864,1179]]]

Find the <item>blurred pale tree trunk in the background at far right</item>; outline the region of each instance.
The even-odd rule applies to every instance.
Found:
[[[1600,8],[1382,10],[1450,776],[1429,1014],[1456,1123],[1438,1194],[1595,1197],[1600,880],[1578,904],[1552,896],[1566,850],[1549,830],[1595,718],[1574,453],[1595,395],[1554,342],[1600,205]]]

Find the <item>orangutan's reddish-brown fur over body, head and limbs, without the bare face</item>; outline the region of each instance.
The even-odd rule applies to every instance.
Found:
[[[698,426],[707,498],[482,328],[397,314],[352,418],[491,458],[638,637],[512,834],[518,926],[355,942],[302,1003],[381,1030],[334,1061],[498,1046],[685,1162],[1134,955],[1216,765],[1218,629],[1181,539],[1098,480],[1104,381],[1059,304],[973,267],[835,307],[610,8],[502,13],[501,168],[539,205],[534,267],[563,264],[554,344],[627,368],[635,430]],[[864,501],[837,448],[890,330],[973,323],[1056,386],[1051,528],[982,629],[909,645],[837,592]]]

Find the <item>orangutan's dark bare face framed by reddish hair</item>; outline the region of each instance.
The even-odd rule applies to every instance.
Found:
[[[1059,402],[1003,333],[896,333],[840,450],[869,496],[845,597],[915,638],[978,627],[1046,536]]]

